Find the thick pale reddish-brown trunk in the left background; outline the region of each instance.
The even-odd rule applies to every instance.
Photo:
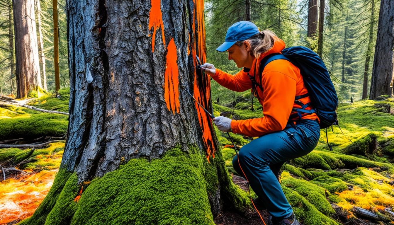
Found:
[[[13,0],[17,98],[26,97],[40,76],[33,0]]]

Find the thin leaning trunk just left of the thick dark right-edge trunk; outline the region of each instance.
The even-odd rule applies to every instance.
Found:
[[[367,97],[367,92],[368,92],[368,71],[369,71],[369,64],[372,55],[372,48],[374,44],[373,43],[374,26],[375,26],[375,0],[372,0],[368,47],[367,47],[367,55],[365,58],[365,66],[364,66],[364,82],[362,84],[362,99],[365,99]]]

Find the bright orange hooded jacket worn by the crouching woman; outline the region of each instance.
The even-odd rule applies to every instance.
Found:
[[[276,38],[272,48],[253,61],[249,74],[255,77],[258,84],[260,84],[259,76],[255,76],[254,73],[255,71],[258,73],[260,61],[269,54],[281,52],[284,46],[284,42]],[[244,68],[235,75],[216,69],[216,73],[212,78],[221,86],[230,90],[246,91],[252,88],[252,82],[245,69],[247,71],[247,68]],[[296,96],[308,93],[299,69],[287,60],[273,60],[268,63],[262,72],[261,80],[264,91],[257,87],[257,95],[263,107],[264,117],[232,120],[231,130],[233,133],[258,137],[270,132],[283,130],[289,121],[292,108],[301,108],[300,105],[294,103]],[[300,101],[303,104],[310,102],[309,97],[300,99]],[[310,110],[312,108],[310,106],[306,109]],[[303,113],[302,115],[302,119],[318,120],[316,113]]]

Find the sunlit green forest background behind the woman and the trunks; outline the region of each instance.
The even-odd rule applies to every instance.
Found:
[[[322,37],[319,35],[319,14],[323,2],[324,22]],[[35,5],[37,40],[42,39],[43,49],[38,45],[38,52],[45,56],[45,66],[40,57],[40,73],[46,73],[49,92],[55,90],[54,76],[54,39],[52,1],[40,0],[41,10]],[[331,73],[340,101],[355,101],[369,94],[372,64],[374,60],[379,17],[378,0],[207,0],[205,6],[207,61],[216,68],[229,73],[239,69],[235,63],[227,60],[227,52],[219,53],[215,49],[223,43],[227,28],[234,22],[250,20],[260,30],[269,29],[284,40],[286,46],[303,45],[318,52]],[[314,28],[308,33],[308,13],[314,15]],[[0,92],[4,95],[15,94],[15,43],[13,35],[12,1],[0,4]],[[41,16],[39,22],[38,16]],[[311,16],[309,16],[311,17]],[[318,20],[319,19],[319,20]],[[59,34],[59,78],[60,86],[69,86],[67,64],[67,18],[65,0],[58,1]],[[38,32],[41,28],[41,35]],[[11,40],[11,41],[10,41]],[[320,40],[320,41],[319,41]],[[244,93],[232,93],[213,83],[212,97],[221,103],[234,101]],[[37,91],[36,91],[37,92]],[[30,96],[35,96],[30,93]]]

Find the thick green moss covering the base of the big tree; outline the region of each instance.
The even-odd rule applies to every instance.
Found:
[[[230,199],[220,201],[232,202],[239,209],[249,203],[245,193],[228,182],[223,158],[216,157],[211,163],[204,158],[192,145],[189,152],[175,147],[161,159],[132,159],[84,184],[77,183],[75,173],[60,169],[35,214],[19,225],[213,225],[208,195],[216,195],[218,187],[225,195],[221,199],[231,193]]]

